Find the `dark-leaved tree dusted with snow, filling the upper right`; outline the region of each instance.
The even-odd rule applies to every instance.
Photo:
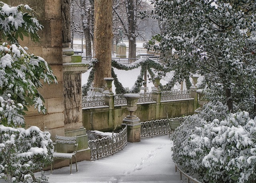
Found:
[[[146,47],[160,50],[166,65],[175,71],[180,81],[193,73],[203,75],[210,89],[218,89],[213,93],[224,94],[222,101],[230,111],[237,99],[253,106],[256,1],[154,2],[154,17],[165,31],[153,37]],[[155,40],[160,41],[159,47],[154,45]]]

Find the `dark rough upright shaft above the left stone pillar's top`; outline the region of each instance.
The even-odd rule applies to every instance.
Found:
[[[70,0],[61,0],[62,43],[70,43]]]

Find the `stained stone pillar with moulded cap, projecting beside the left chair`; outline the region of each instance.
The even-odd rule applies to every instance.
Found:
[[[73,56],[63,56],[65,59]],[[78,59],[78,57],[75,57]],[[77,61],[77,60],[76,60]],[[81,62],[81,59],[80,59]],[[83,63],[63,63],[64,78],[64,129],[65,136],[76,136],[78,143],[78,161],[90,160],[88,148],[88,136],[82,125],[82,73],[87,71],[87,65]]]

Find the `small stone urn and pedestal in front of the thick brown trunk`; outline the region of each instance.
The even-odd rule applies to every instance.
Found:
[[[103,92],[103,94],[105,94],[105,104],[109,106],[109,109],[113,109],[115,95],[112,92],[112,81],[114,81],[114,78],[104,77],[104,80],[106,81],[107,88],[107,90]]]

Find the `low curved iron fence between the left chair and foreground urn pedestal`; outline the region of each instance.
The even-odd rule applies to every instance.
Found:
[[[89,140],[88,145],[91,149],[91,161],[113,155],[127,145],[127,126],[112,136]]]

